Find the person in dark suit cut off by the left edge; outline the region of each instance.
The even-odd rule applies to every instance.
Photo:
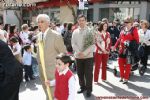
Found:
[[[0,40],[0,100],[19,100],[22,65],[8,45]]]

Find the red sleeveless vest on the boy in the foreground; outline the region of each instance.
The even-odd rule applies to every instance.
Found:
[[[68,100],[69,96],[69,79],[73,73],[68,70],[68,72],[64,75],[59,75],[58,71],[55,72],[56,79],[56,87],[55,87],[55,98],[58,100]]]

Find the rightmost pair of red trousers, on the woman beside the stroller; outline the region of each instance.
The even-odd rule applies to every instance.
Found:
[[[120,57],[118,59],[118,63],[120,69],[120,77],[128,80],[131,71],[131,64],[127,64],[126,58],[120,58]]]

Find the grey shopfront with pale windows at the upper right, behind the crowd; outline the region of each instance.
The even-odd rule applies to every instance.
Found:
[[[150,21],[149,9],[150,2],[148,1],[94,3],[87,10],[87,18],[88,21],[96,22],[102,18],[112,21],[115,18],[123,20],[127,16],[133,16],[134,19]]]

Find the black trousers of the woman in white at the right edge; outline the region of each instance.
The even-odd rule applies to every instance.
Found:
[[[150,46],[144,47],[144,56],[141,58],[141,64],[147,67],[148,55],[150,54]]]

